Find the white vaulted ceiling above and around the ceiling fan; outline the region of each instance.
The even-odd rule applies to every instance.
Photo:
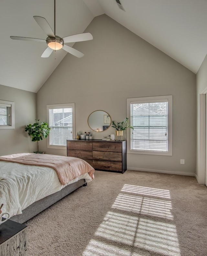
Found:
[[[65,37],[82,33],[93,17],[105,13],[197,73],[207,54],[206,0],[120,2],[125,11],[118,8],[115,0],[56,0],[56,34]],[[0,1],[0,84],[37,92],[67,53],[60,50],[56,51],[56,59],[55,52],[49,58],[41,58],[46,44],[10,39],[46,39],[33,16],[46,18],[54,30],[53,1]]]

